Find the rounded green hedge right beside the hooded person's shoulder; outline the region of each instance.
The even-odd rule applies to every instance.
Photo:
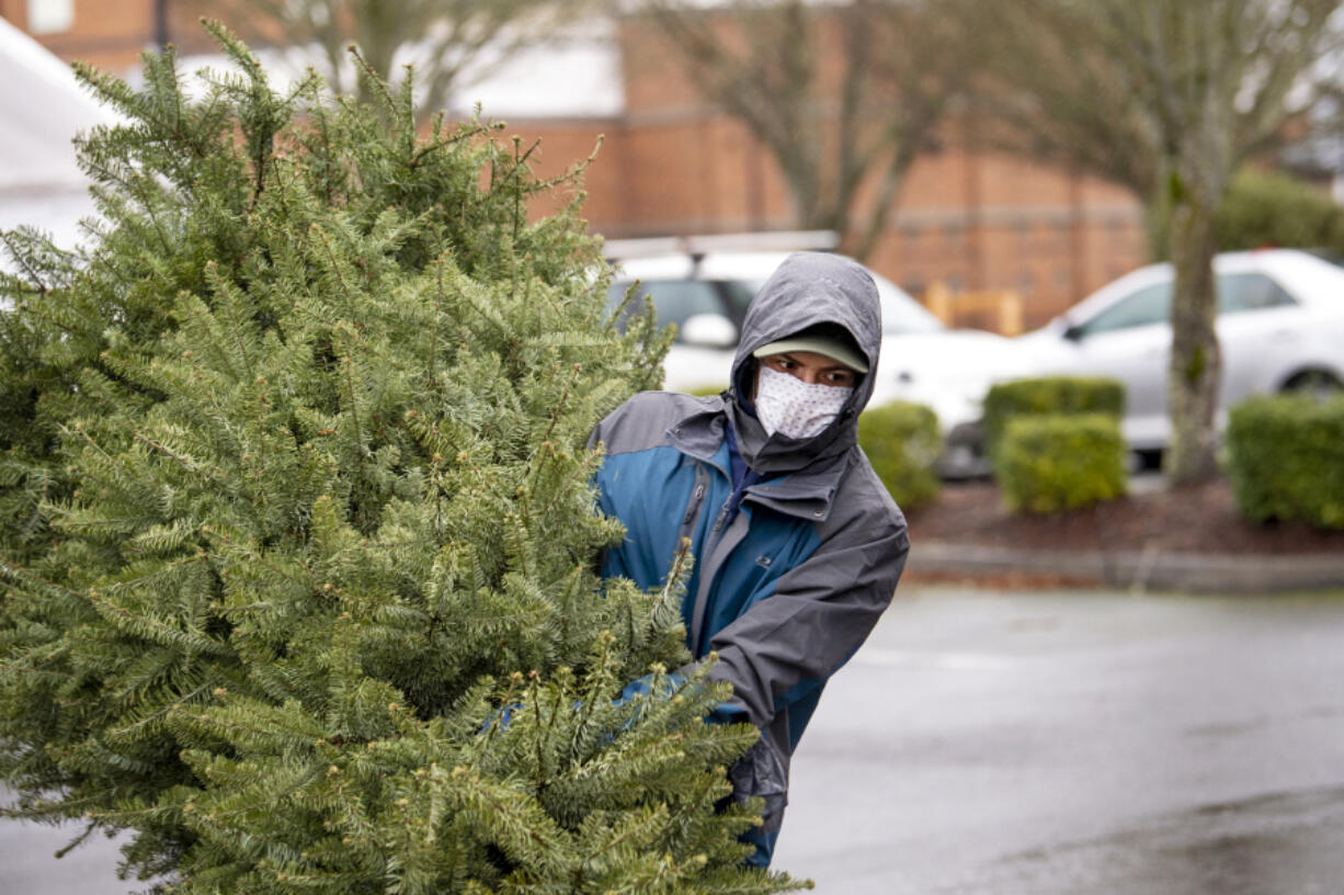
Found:
[[[859,417],[859,446],[903,509],[938,499],[942,435],[929,407],[906,400],[870,407]]]

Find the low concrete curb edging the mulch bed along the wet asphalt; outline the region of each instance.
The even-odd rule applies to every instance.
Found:
[[[1337,554],[1231,555],[1142,551],[1013,550],[948,542],[911,544],[914,572],[1052,575],[1130,590],[1265,593],[1344,587]]]

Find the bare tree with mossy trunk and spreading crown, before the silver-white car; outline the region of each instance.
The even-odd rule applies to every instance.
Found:
[[[1036,153],[1129,185],[1172,258],[1167,470],[1216,474],[1214,216],[1232,175],[1309,108],[1340,0],[1015,0],[984,23],[1000,120]],[[1165,249],[1163,251],[1161,249]]]

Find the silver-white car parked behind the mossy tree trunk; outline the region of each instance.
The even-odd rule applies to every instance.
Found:
[[[1290,249],[1214,261],[1223,371],[1218,425],[1257,394],[1337,390],[1344,383],[1344,269]],[[1129,273],[1044,328],[1013,340],[1030,375],[1110,376],[1125,384],[1125,441],[1157,452],[1171,438],[1171,265]]]

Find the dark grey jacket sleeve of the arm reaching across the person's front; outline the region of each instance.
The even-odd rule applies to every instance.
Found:
[[[883,495],[884,496],[884,495]],[[851,516],[774,593],[711,640],[714,680],[732,684],[732,700],[757,727],[821,687],[863,645],[891,602],[910,552],[899,511]],[[726,719],[724,718],[724,719]]]

